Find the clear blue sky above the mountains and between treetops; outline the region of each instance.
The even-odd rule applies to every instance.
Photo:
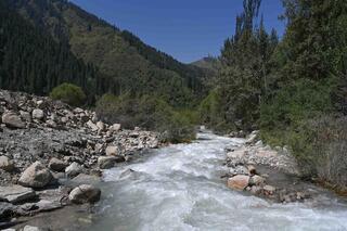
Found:
[[[219,55],[234,33],[242,0],[70,0],[82,9],[139,36],[145,43],[190,63]],[[281,0],[262,0],[268,29],[282,35]]]

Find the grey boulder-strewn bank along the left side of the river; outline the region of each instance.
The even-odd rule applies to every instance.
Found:
[[[18,216],[97,202],[102,192],[86,182],[160,145],[156,132],[125,130],[92,111],[21,92],[0,90],[0,229]]]

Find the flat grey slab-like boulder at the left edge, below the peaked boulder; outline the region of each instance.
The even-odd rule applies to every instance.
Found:
[[[30,188],[21,185],[0,187],[0,201],[12,204],[23,203],[36,197],[36,193]]]

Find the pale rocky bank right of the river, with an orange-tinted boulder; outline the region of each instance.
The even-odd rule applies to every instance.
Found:
[[[314,192],[300,179],[300,171],[287,147],[271,149],[255,131],[239,146],[226,149],[228,187],[277,203],[305,202]]]

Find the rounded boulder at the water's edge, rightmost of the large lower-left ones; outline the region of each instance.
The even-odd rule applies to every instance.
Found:
[[[74,204],[95,203],[100,201],[100,189],[90,184],[82,184],[69,193],[68,200]]]

